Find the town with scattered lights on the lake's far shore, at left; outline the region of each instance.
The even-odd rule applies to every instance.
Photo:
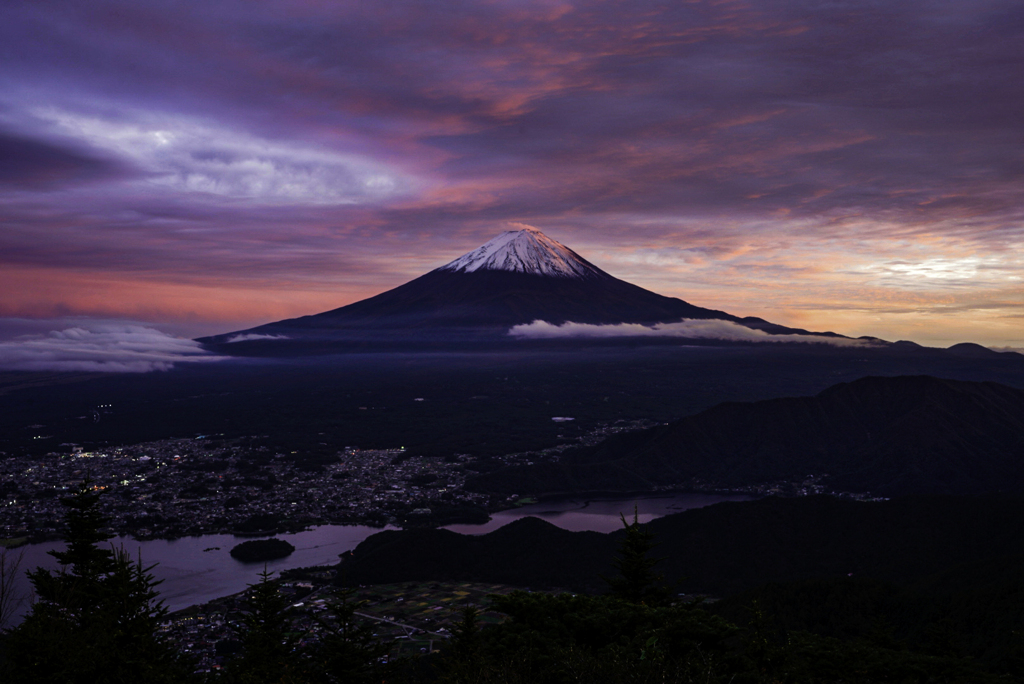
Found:
[[[463,490],[466,474],[458,459],[408,456],[401,448],[346,448],[310,466],[265,446],[205,438],[101,452],[71,447],[0,460],[0,539],[56,537],[65,514],[60,498],[84,481],[104,491],[100,507],[111,531],[152,539],[383,525],[438,504],[488,505],[485,495]],[[261,529],[250,529],[254,524]]]

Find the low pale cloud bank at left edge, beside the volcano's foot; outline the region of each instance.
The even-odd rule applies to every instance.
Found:
[[[0,342],[0,369],[6,371],[150,373],[225,358],[144,326],[76,327]]]

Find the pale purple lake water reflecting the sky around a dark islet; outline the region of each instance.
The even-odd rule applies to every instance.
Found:
[[[754,497],[711,494],[564,499],[500,511],[482,525],[449,525],[446,529],[464,535],[484,535],[513,520],[535,516],[572,531],[609,532],[623,526],[620,514],[632,521],[634,507],[638,519],[648,522],[691,508],[751,499]],[[333,564],[338,562],[341,553],[354,549],[359,542],[381,529],[365,525],[321,525],[294,535],[278,535],[279,539],[287,540],[295,547],[295,553],[287,558],[269,561],[266,567],[270,571],[280,572],[293,567]],[[247,585],[256,583],[259,580],[258,573],[263,570],[263,563],[243,563],[231,558],[228,553],[244,541],[246,540],[232,535],[204,535],[146,542],[129,537],[112,540],[115,545],[124,545],[132,556],[140,555],[145,565],[157,563],[153,574],[163,580],[158,589],[171,610],[234,594],[244,590]],[[56,561],[47,554],[54,549],[63,549],[63,544],[33,544],[14,550],[14,553],[25,551],[23,573],[16,591],[25,593],[30,589],[24,576],[25,569],[37,566],[56,568]]]

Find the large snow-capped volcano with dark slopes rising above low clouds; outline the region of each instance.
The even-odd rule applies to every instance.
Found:
[[[510,341],[509,331],[514,327],[538,322],[550,328],[564,324],[649,327],[681,320],[725,322],[772,336],[846,339],[701,308],[644,290],[527,227],[503,232],[443,266],[369,299],[200,342],[224,350],[229,345],[232,352],[284,350],[298,342],[327,345],[325,350],[342,343],[369,347],[418,341],[436,346]]]

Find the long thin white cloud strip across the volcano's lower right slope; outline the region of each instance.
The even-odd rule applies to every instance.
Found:
[[[802,342],[806,344],[831,344],[839,347],[871,346],[868,340],[851,340],[845,337],[818,335],[773,335],[746,328],[731,320],[683,318],[677,323],[659,323],[653,326],[620,323],[598,326],[587,323],[563,323],[560,326],[546,320],[514,326],[509,335],[532,340],[564,337],[679,337],[690,340],[730,340],[735,342]]]

